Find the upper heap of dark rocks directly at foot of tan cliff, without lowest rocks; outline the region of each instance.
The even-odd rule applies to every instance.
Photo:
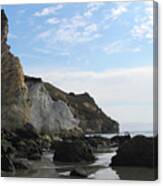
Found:
[[[40,137],[31,124],[9,131],[2,129],[2,155],[15,158],[40,159],[42,155]]]

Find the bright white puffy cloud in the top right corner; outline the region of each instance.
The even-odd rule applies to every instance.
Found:
[[[153,40],[153,2],[144,3],[144,12],[135,18],[131,35],[138,39]]]

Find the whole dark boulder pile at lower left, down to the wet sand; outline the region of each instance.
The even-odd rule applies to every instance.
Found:
[[[16,130],[1,130],[2,170],[14,172],[16,169],[30,168],[28,160],[41,158],[40,136],[35,128],[27,123]]]

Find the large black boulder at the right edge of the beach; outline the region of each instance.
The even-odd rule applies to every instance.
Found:
[[[112,158],[111,166],[157,166],[157,137],[136,136],[124,143]]]

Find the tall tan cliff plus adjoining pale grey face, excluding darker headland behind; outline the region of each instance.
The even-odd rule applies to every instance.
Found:
[[[38,132],[81,132],[63,101],[53,101],[40,78],[25,77],[20,61],[7,44],[8,19],[1,10],[2,128],[31,123]]]

